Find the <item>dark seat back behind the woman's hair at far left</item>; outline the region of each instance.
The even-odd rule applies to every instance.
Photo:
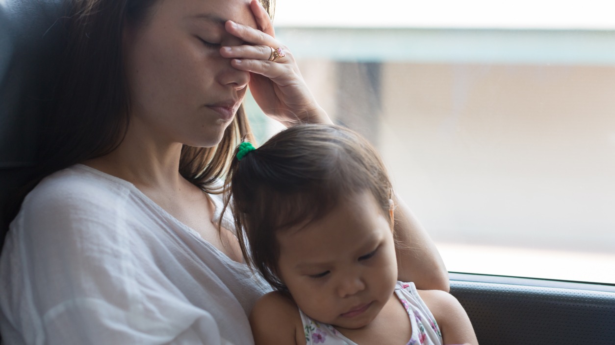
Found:
[[[62,57],[63,0],[0,1],[0,204],[36,159],[39,123]],[[4,217],[4,212],[1,212]],[[5,219],[2,220],[4,224]],[[2,227],[2,232],[6,228]],[[4,238],[4,233],[0,233]]]

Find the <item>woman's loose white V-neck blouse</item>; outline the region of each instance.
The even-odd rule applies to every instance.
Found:
[[[5,344],[253,344],[247,315],[271,290],[134,185],[84,165],[26,196],[0,284]]]

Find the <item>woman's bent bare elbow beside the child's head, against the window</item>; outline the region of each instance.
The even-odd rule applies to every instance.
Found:
[[[448,292],[450,284],[444,262],[434,242],[403,200],[395,196],[395,236],[402,244],[397,252],[397,279],[414,282],[419,290]]]

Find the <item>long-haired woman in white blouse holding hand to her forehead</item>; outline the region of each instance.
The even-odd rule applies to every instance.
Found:
[[[249,85],[285,125],[330,122],[255,0],[73,0],[38,182],[0,259],[7,344],[251,344],[271,290],[216,182],[249,128]],[[277,49],[280,47],[280,49]],[[21,200],[17,200],[20,203]],[[400,277],[448,289],[400,206]],[[406,241],[409,242],[409,241]],[[420,259],[420,260],[418,260]]]

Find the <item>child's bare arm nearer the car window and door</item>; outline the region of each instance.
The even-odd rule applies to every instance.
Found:
[[[478,345],[470,318],[453,295],[440,290],[419,290],[418,293],[434,314],[443,344]]]

